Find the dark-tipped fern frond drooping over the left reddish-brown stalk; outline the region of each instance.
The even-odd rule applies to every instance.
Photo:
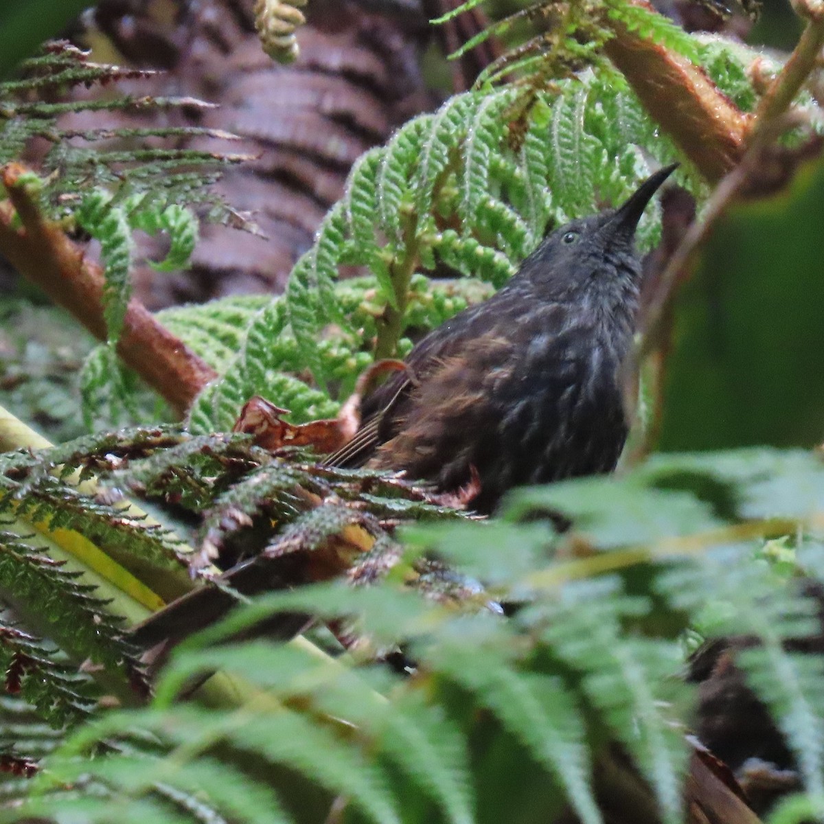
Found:
[[[92,63],[87,53],[72,45],[54,43],[42,56],[25,61],[21,75],[20,80],[0,83],[0,165],[21,157],[33,138],[44,138],[50,144],[41,163],[40,208],[46,217],[67,226],[77,224],[101,242],[105,320],[110,341],[115,342],[129,301],[133,230],[169,235],[171,248],[156,268],[184,266],[198,235],[198,220],[190,208],[203,204],[209,207],[205,218],[227,218],[227,208],[209,187],[223,166],[245,158],[163,145],[169,138],[231,137],[199,127],[118,130],[101,121],[99,129],[77,131],[60,124],[62,115],[77,112],[97,112],[103,117],[115,111],[208,107],[192,98],[59,99],[78,85],[115,84],[149,77],[152,72]],[[44,91],[57,99],[44,100]],[[161,138],[159,144],[157,138]],[[102,140],[119,141],[122,147],[104,149]]]

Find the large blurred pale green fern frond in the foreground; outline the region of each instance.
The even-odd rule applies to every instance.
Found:
[[[331,469],[320,476],[351,493],[366,475]],[[136,814],[139,799],[167,792],[226,814],[222,789],[202,783],[212,775],[208,768],[196,772],[202,761],[217,760],[230,783],[250,764],[262,765],[271,777],[265,789],[280,799],[276,809],[286,820],[288,781],[271,771],[274,764],[297,771],[327,804],[348,794],[369,820],[486,822],[479,782],[494,780],[488,759],[506,751],[519,770],[528,764],[541,785],[556,788],[543,812],[557,815],[569,804],[594,824],[602,820],[598,776],[611,769],[609,742],[619,742],[622,757],[644,776],[639,793],[650,788],[662,820],[677,821],[690,755],[683,733],[695,699],[694,686],[677,678],[678,634],[690,626],[748,639],[737,664],[775,715],[814,798],[824,751],[817,690],[824,671],[820,655],[794,644],[820,631],[817,602],[808,588],[799,592],[792,571],[780,573],[756,554],[759,541],[731,545],[731,536],[756,535],[754,527],[796,534],[820,517],[822,479],[824,463],[802,452],[662,456],[623,478],[523,490],[497,522],[415,527],[402,536],[405,554],[395,544],[393,568],[371,587],[334,582],[265,594],[190,639],[166,669],[152,710],[83,725],[49,759],[40,784],[85,770],[107,794],[45,795],[30,809],[78,803],[97,816],[116,802]],[[373,483],[389,496],[398,482]],[[550,517],[559,516],[570,531],[553,526]],[[355,523],[367,531],[377,525],[327,498],[261,541],[269,554],[310,552]],[[821,546],[812,539],[804,545],[797,569],[817,575]],[[475,584],[462,600],[415,590],[423,549],[437,550],[455,574],[489,590]],[[508,618],[495,599],[509,603]],[[333,660],[300,646],[237,640],[277,612],[337,620],[358,642]],[[398,644],[405,676],[373,663],[387,650],[398,654]],[[192,679],[218,668],[260,694],[235,709],[176,702]],[[121,749],[88,761],[83,754],[101,741],[119,741]],[[133,763],[147,749],[151,758]],[[401,807],[398,794],[411,785],[419,798]],[[185,809],[184,820],[197,820],[198,812]],[[252,805],[242,814],[255,821],[259,812]]]

